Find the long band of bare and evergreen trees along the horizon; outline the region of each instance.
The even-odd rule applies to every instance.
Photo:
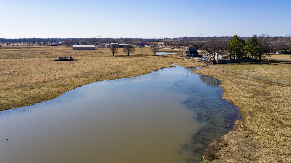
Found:
[[[227,50],[230,56],[237,56],[238,58],[255,57],[261,59],[261,57],[269,55],[270,52],[276,50],[291,51],[291,35],[275,36],[261,34],[259,36],[253,35],[251,37],[239,37],[237,35],[221,36],[221,37],[180,37],[180,38],[102,38],[100,35],[92,38],[18,38],[18,39],[6,39],[0,38],[2,45],[51,45],[53,43],[71,46],[71,45],[96,45],[104,47],[105,44],[109,44],[112,53],[117,53],[117,48],[112,46],[112,43],[130,43],[131,46],[125,47],[128,55],[133,52],[133,46],[139,46],[140,43],[147,42],[153,43],[154,46],[150,46],[155,53],[158,48],[159,42],[163,42],[164,46],[176,46],[184,47],[189,45],[195,45],[200,50],[207,50],[212,57],[220,50]],[[132,46],[133,45],[133,46]]]

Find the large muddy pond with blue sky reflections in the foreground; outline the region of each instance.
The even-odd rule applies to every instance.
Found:
[[[2,111],[0,162],[192,162],[237,118],[218,85],[176,66]]]

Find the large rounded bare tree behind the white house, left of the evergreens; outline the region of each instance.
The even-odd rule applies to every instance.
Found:
[[[215,59],[215,56],[218,54],[219,51],[226,48],[226,43],[221,39],[211,39],[209,42],[204,44],[204,50],[208,52],[209,55]]]

